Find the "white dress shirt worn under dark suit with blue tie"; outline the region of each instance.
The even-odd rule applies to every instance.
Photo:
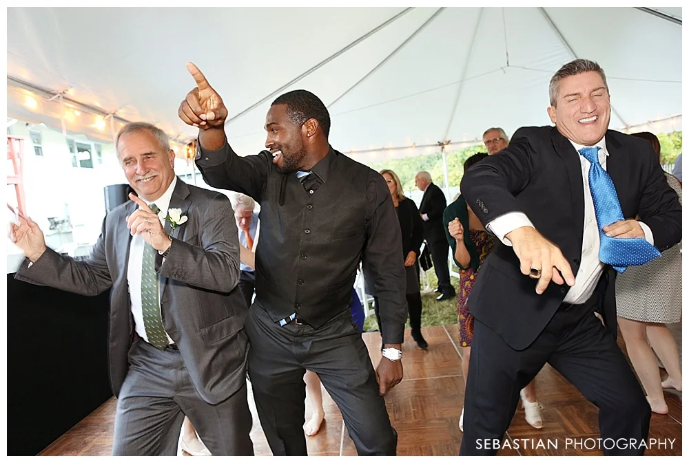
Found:
[[[577,152],[579,149],[584,148],[581,144],[576,144],[575,142],[571,143],[574,145]],[[598,151],[598,160],[603,169],[607,170],[607,159],[610,153],[608,153],[608,149],[606,148],[605,137],[594,146],[601,148]],[[584,176],[584,240],[582,242],[581,266],[579,266],[579,270],[575,275],[575,285],[569,289],[563,301],[570,304],[582,304],[591,297],[605,267],[605,264],[600,261],[598,255],[600,249],[600,235],[598,234],[598,222],[593,207],[593,196],[588,186],[588,171],[591,163],[582,155],[579,155],[579,161],[582,163],[582,175]],[[650,228],[648,228],[648,225],[642,222],[639,222],[639,225],[641,225],[641,229],[644,230],[646,241],[653,244],[653,234]],[[526,217],[526,214],[511,212],[497,217],[497,219],[491,221],[486,228],[493,232],[504,244],[512,246],[512,243],[505,235],[522,226],[535,228],[531,220]]]

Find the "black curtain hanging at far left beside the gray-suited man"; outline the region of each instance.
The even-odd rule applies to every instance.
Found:
[[[8,274],[8,455],[37,455],[112,397],[108,299]]]

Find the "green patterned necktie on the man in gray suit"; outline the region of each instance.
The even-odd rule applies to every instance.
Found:
[[[160,209],[155,204],[150,205],[154,213]],[[141,268],[141,312],[143,327],[146,330],[148,342],[165,349],[169,342],[161,318],[161,300],[158,295],[158,274],[156,273],[156,250],[148,243],[143,246],[143,266]]]

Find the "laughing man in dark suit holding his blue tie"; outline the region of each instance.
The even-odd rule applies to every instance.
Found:
[[[615,275],[681,239],[681,206],[650,144],[608,130],[597,63],[564,65],[549,93],[555,127],[519,129],[462,179],[500,243],[469,299],[460,455],[497,452],[520,389],[546,362],[599,408],[603,453],[643,454],[650,407],[616,343]]]

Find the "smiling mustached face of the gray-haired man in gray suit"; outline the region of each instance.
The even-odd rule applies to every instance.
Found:
[[[148,130],[121,136],[117,154],[130,186],[147,202],[163,196],[174,180],[174,151],[165,153]]]

